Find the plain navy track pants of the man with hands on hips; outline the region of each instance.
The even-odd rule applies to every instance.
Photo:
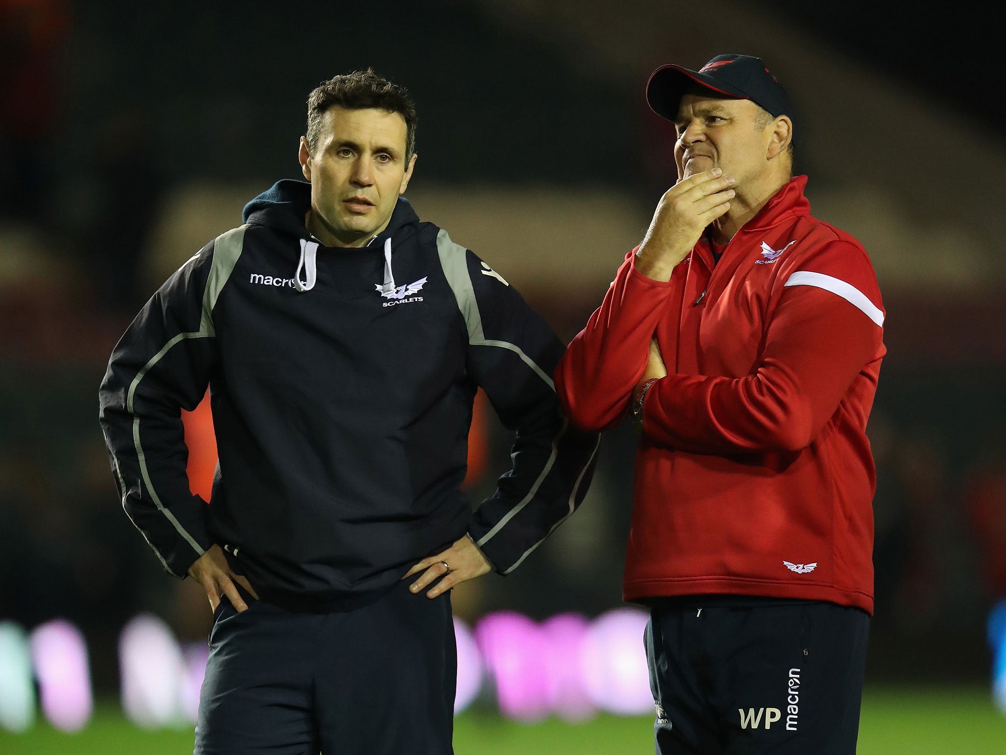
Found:
[[[224,598],[214,615],[196,755],[452,755],[457,648],[450,593],[405,580],[324,614]]]

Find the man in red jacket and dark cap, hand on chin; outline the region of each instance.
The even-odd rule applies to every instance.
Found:
[[[884,312],[862,246],[810,213],[765,63],[658,68],[678,181],[555,388],[627,413],[625,599],[651,607],[658,753],[853,753],[873,610],[866,420]]]

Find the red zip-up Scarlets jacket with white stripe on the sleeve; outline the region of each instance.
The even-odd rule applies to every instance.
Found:
[[[873,267],[810,213],[797,176],[718,263],[670,281],[630,253],[555,372],[569,420],[616,425],[654,335],[668,375],[643,407],[624,597],[724,594],[873,611],[866,420],[885,353]]]

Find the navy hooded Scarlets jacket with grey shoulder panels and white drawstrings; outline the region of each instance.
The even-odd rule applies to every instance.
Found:
[[[267,601],[366,602],[469,533],[500,573],[576,508],[598,437],[570,428],[563,345],[500,275],[398,200],[367,247],[325,248],[283,180],[186,262],[116,345],[101,423],[123,507],[184,577],[211,545]],[[189,490],[180,418],[209,386],[219,465]],[[481,387],[513,465],[460,491]]]

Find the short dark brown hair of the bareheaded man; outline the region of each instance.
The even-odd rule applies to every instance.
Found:
[[[404,87],[391,84],[372,68],[342,73],[322,82],[308,98],[308,149],[313,153],[321,136],[325,113],[333,107],[348,110],[374,108],[397,113],[405,121],[405,162],[415,152],[415,104]]]

